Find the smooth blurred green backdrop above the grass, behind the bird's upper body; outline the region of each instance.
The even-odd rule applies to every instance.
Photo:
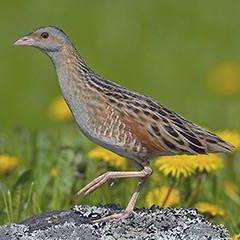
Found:
[[[210,129],[239,129],[238,92],[217,94],[208,87],[218,64],[238,68],[239,10],[240,2],[229,0],[2,1],[0,130],[56,125],[47,111],[60,94],[50,60],[35,49],[12,45],[43,25],[64,29],[105,78]]]

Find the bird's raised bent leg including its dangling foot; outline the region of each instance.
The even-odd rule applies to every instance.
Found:
[[[129,177],[140,177],[144,178],[146,176],[151,175],[152,169],[149,166],[144,166],[140,171],[122,171],[122,172],[106,172],[95,179],[93,179],[89,184],[83,187],[77,195],[84,195],[95,191],[98,187],[106,183],[109,179],[116,179],[116,178],[129,178]]]

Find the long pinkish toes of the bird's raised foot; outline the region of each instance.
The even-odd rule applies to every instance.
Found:
[[[98,187],[103,185],[109,180],[109,174],[108,172],[100,175],[99,177],[96,177],[93,179],[90,183],[88,183],[85,187],[83,187],[78,193],[77,196],[83,195],[86,196],[89,193],[95,191]]]

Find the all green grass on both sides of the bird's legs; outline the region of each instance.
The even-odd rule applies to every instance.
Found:
[[[135,188],[135,180],[122,179],[112,187],[106,185],[85,198],[76,198],[76,192],[95,176],[115,169],[86,156],[94,145],[79,134],[75,125],[58,126],[59,130],[46,132],[18,128],[0,136],[0,153],[11,153],[21,159],[14,171],[0,178],[1,224],[19,222],[46,210],[67,209],[74,204],[116,203],[126,206]],[[232,233],[238,232],[240,196],[235,201],[227,197],[223,183],[231,180],[240,184],[239,159],[239,152],[225,156],[224,168],[202,175],[203,184],[191,198],[189,195],[196,190],[199,176],[182,179],[177,187],[181,195],[177,207],[193,207],[198,201],[219,205],[225,211],[224,217],[210,220],[224,224]],[[50,176],[52,167],[59,170],[59,176]],[[129,163],[128,169],[132,168]],[[173,179],[164,177],[157,169],[155,172],[159,174],[160,181],[149,178],[137,203],[138,207],[146,206],[149,191],[172,184]]]

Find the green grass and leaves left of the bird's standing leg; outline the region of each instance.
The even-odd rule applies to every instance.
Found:
[[[66,125],[61,132],[50,133],[18,129],[13,135],[2,136],[4,143],[0,147],[4,153],[18,156],[21,164],[13,173],[1,177],[0,223],[20,221],[42,211],[65,209],[73,204],[106,204],[120,194],[121,199],[115,202],[127,203],[131,189],[125,189],[126,182],[116,184],[119,185],[116,190],[103,187],[92,197],[76,199],[77,190],[109,168],[103,162],[88,161],[85,152],[91,145],[80,137],[75,126]],[[52,167],[59,169],[58,177],[50,176]]]

